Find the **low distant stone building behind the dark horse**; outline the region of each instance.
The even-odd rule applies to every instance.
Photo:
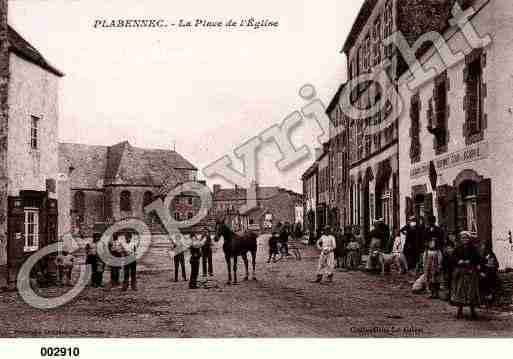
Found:
[[[267,231],[278,222],[295,223],[296,207],[302,205],[302,195],[280,187],[254,186],[256,189],[250,193],[256,193],[257,207],[241,213],[240,208],[247,201],[247,189],[214,185],[213,214],[226,217],[234,230],[258,226],[261,231]]]

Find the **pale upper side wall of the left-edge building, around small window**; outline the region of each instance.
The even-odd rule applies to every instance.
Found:
[[[10,71],[8,193],[46,191],[46,180],[57,181],[59,172],[59,77],[13,53]],[[39,119],[37,149],[30,144],[32,116]],[[49,196],[57,198],[57,193]]]

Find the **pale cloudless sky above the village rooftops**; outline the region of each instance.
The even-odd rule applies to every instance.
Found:
[[[363,0],[10,0],[9,23],[65,73],[60,81],[62,142],[128,140],[176,149],[199,169],[304,106],[312,84],[326,105],[345,81],[344,40]],[[254,17],[277,28],[95,28],[96,20],[227,21]],[[296,147],[318,146],[320,128],[303,121]],[[313,158],[286,172],[275,144],[258,152],[258,182],[301,192]],[[209,185],[230,184],[208,178]]]

